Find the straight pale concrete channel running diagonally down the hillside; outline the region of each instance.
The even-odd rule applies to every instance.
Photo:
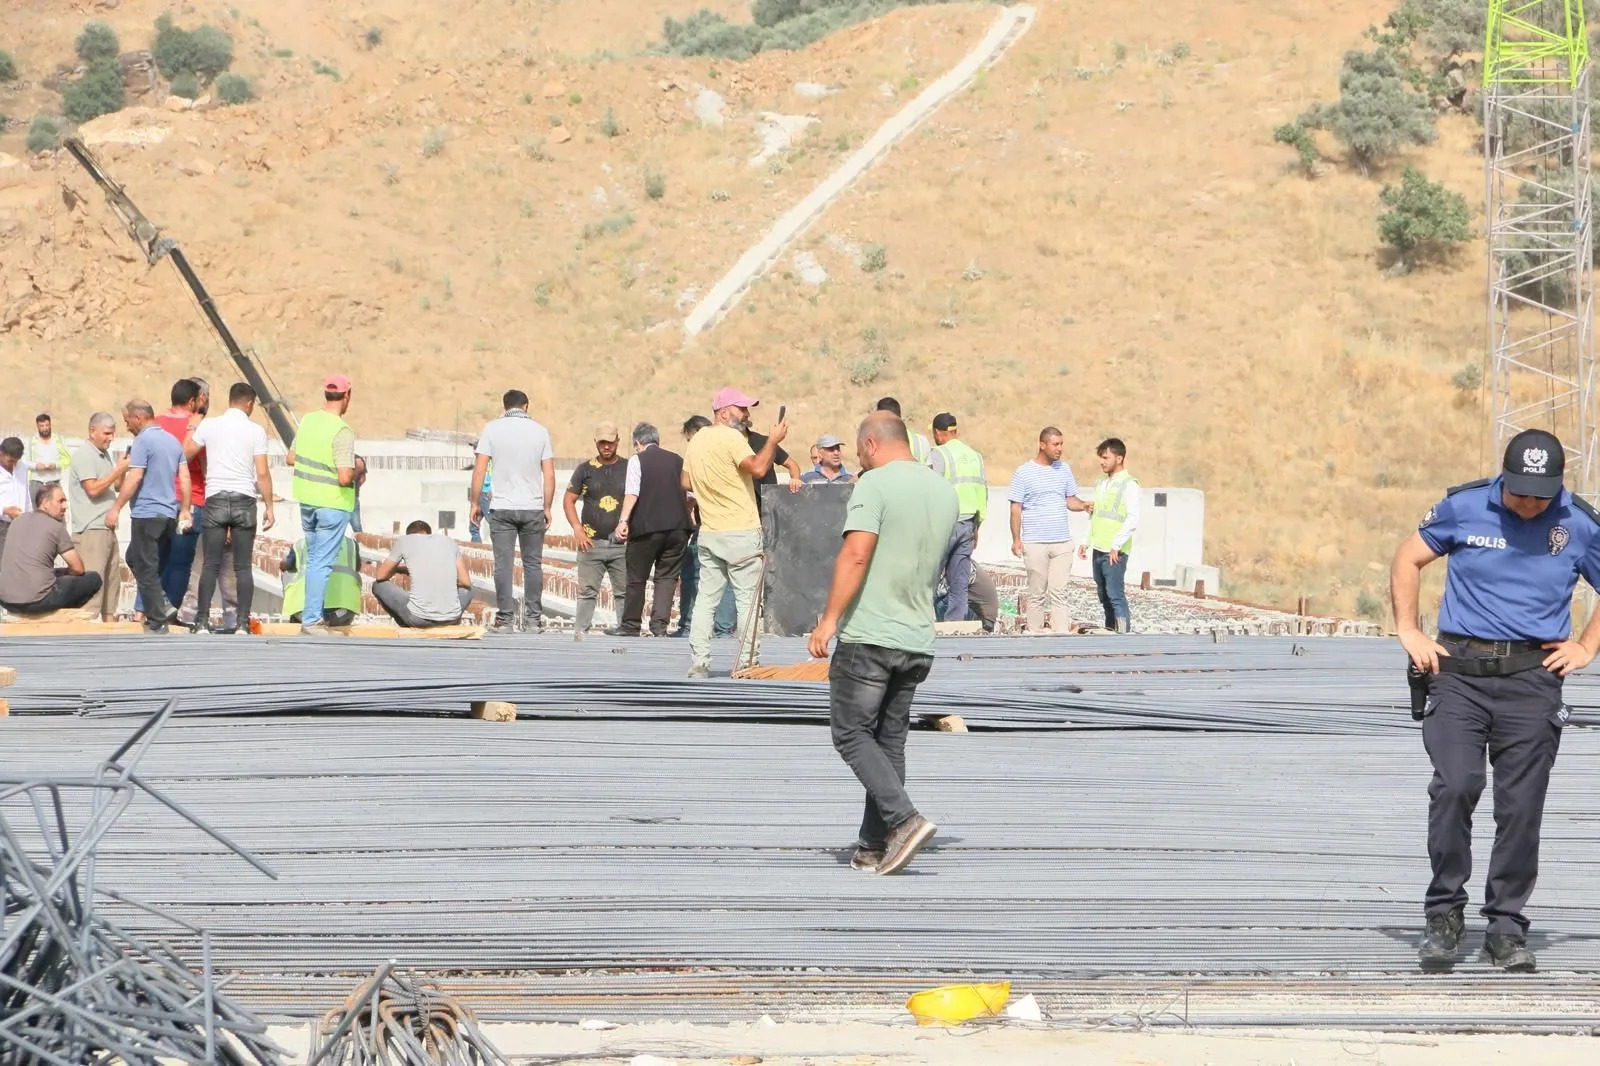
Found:
[[[683,331],[690,336],[704,333],[717,325],[723,314],[733,307],[766,269],[778,261],[800,234],[811,222],[822,216],[822,211],[837,200],[861,174],[867,173],[874,163],[888,155],[894,142],[915,130],[923,118],[938,110],[946,101],[966,88],[984,69],[992,67],[1011,48],[1022,34],[1034,24],[1034,8],[1019,3],[1000,11],[994,26],[958,64],[950,67],[938,82],[931,83],[917,99],[906,104],[893,118],[878,126],[878,131],[867,138],[867,142],[856,149],[838,170],[827,176],[800,203],[786,211],[771,230],[752,245],[739,261],[733,264],[722,280],[710,287],[694,309],[683,320]]]

